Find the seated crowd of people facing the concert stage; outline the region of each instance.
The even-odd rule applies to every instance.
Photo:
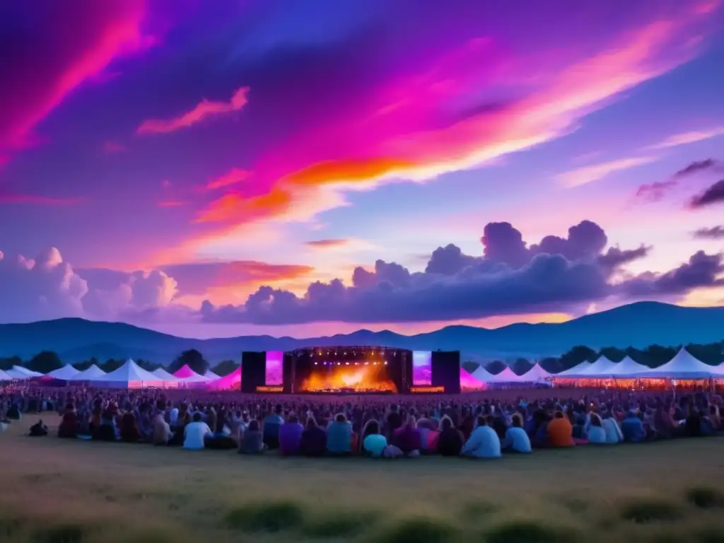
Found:
[[[238,392],[28,388],[0,392],[0,424],[39,413],[30,435],[292,456],[500,458],[536,448],[713,436],[721,397],[555,390],[458,397],[251,396]]]

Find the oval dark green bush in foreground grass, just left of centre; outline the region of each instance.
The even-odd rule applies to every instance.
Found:
[[[250,503],[230,510],[227,524],[234,529],[277,532],[295,529],[304,523],[304,511],[295,502]]]

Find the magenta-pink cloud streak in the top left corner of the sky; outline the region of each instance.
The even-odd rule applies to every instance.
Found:
[[[140,29],[144,0],[78,0],[52,11],[40,19],[43,28],[33,28],[33,38],[16,36],[19,49],[4,62],[0,150],[30,145],[35,127],[75,88],[120,54],[148,44]]]

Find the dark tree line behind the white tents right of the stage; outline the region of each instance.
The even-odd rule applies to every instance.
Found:
[[[510,366],[510,369],[515,371],[516,374],[522,375],[531,369],[537,362],[545,371],[557,374],[559,371],[565,371],[573,368],[574,366],[578,366],[578,364],[582,362],[594,362],[597,358],[599,358],[599,356],[603,355],[614,362],[620,362],[623,358],[626,358],[626,356],[630,356],[633,361],[643,364],[644,366],[648,366],[649,368],[656,368],[670,361],[676,353],[678,353],[681,347],[686,347],[686,350],[688,350],[694,358],[712,366],[716,366],[724,361],[724,341],[722,341],[717,343],[707,343],[705,345],[689,343],[689,345],[676,345],[675,347],[649,345],[649,347],[645,349],[636,349],[633,347],[628,347],[626,349],[605,347],[595,350],[590,347],[586,347],[585,345],[577,345],[558,357],[547,357],[539,360],[518,358],[513,361],[513,363],[508,364],[500,360],[495,360],[484,364],[484,367],[492,374],[498,374],[505,369],[506,366]],[[477,362],[463,362],[463,368],[471,373],[478,369],[479,366],[480,364]]]

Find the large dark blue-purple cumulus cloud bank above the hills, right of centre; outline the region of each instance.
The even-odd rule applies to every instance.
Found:
[[[203,303],[201,316],[210,322],[297,324],[310,321],[390,322],[468,319],[528,311],[562,311],[595,300],[628,293],[610,279],[624,264],[647,256],[650,248],[608,248],[607,236],[594,222],[584,221],[566,237],[547,236],[529,245],[510,223],[490,223],[481,237],[483,254],[466,255],[456,245],[433,251],[424,272],[395,262],[376,261],[374,270],[355,269],[352,284],[340,279],[314,282],[305,295],[261,287],[243,306]],[[694,264],[701,266],[700,257]],[[709,257],[717,258],[717,257]],[[678,292],[705,286],[678,271]],[[711,277],[710,277],[711,279]],[[646,281],[640,277],[636,281]],[[673,287],[665,289],[675,292]],[[661,292],[661,287],[652,292]],[[637,291],[638,292],[638,291]]]

